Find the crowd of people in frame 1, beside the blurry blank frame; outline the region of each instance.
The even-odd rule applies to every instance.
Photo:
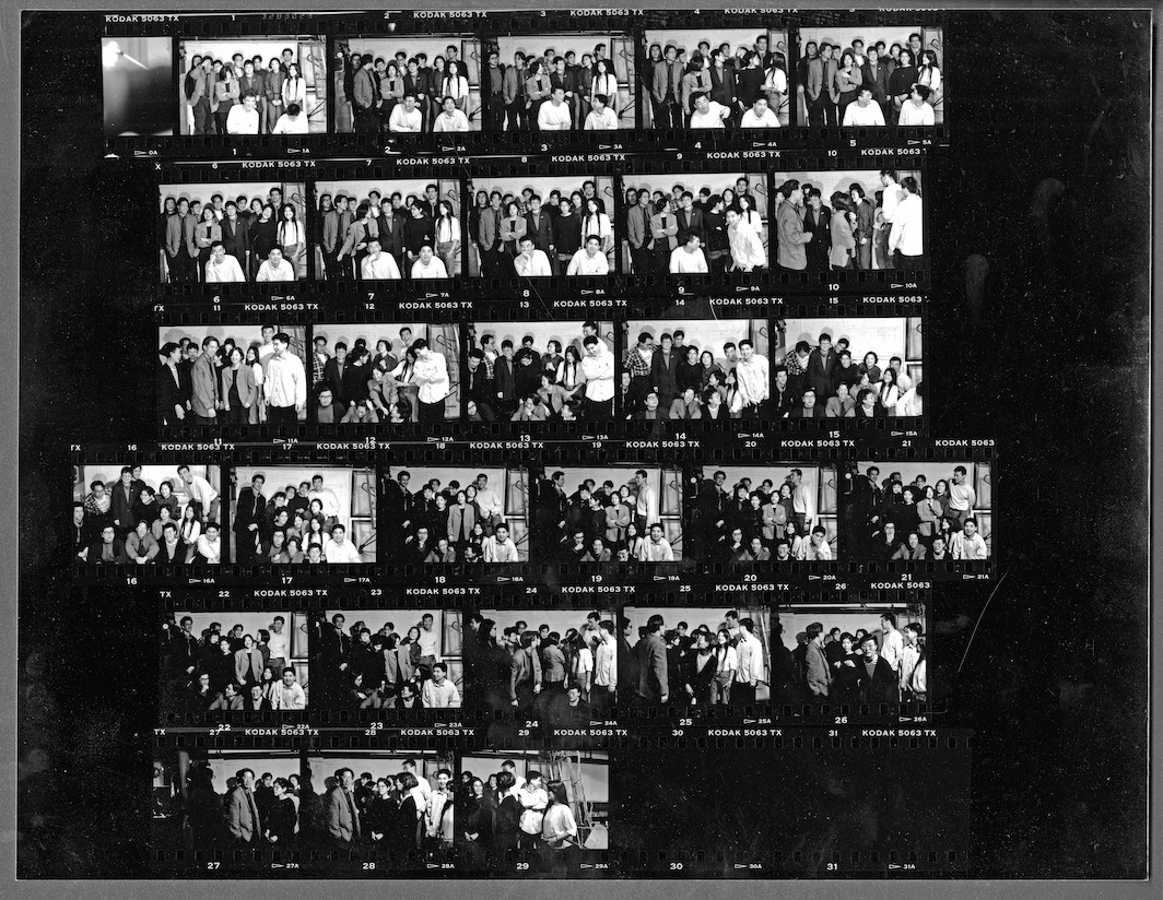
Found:
[[[216,59],[194,53],[183,78],[186,121],[195,135],[305,135],[307,81],[297,51],[283,48],[264,62],[261,53]]]

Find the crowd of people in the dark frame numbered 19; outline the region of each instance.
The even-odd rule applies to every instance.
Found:
[[[535,478],[530,526],[540,544],[538,560],[676,562],[679,555],[657,520],[656,479],[644,469],[620,485],[609,478],[601,485],[594,478],[568,484],[559,470]]]

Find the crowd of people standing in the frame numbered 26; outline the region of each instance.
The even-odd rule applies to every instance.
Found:
[[[776,627],[777,634],[782,626]],[[897,614],[880,615],[879,636],[855,634],[812,622],[789,650],[777,638],[782,658],[782,698],[791,702],[897,706],[926,699],[925,628],[897,628]]]

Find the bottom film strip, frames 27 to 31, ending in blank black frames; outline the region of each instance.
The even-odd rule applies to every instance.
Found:
[[[608,750],[167,734],[150,859],[206,878],[951,877],[969,864],[971,755],[971,733],[927,727]],[[550,793],[576,826],[564,845],[521,827],[519,797]]]

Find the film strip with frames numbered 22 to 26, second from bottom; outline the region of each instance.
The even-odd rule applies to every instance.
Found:
[[[926,591],[156,595],[166,734],[327,729],[428,749],[608,749],[641,729],[691,740],[857,733],[934,714]],[[514,659],[529,664],[520,677]]]

